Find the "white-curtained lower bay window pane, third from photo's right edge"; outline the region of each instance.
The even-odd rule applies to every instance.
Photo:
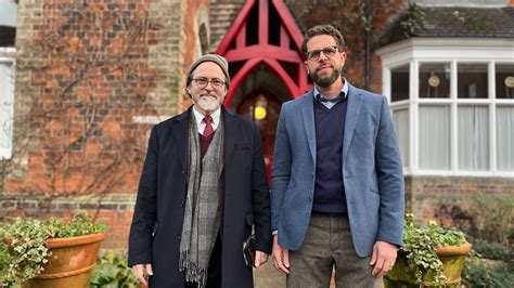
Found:
[[[450,170],[449,106],[420,106],[420,168]]]

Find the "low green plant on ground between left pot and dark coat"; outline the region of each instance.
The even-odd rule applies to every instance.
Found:
[[[132,270],[127,266],[127,256],[107,250],[97,260],[91,277],[91,288],[129,288],[138,286]]]

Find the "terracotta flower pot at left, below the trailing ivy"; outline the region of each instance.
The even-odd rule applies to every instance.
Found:
[[[44,271],[22,284],[23,288],[90,287],[97,252],[105,233],[47,240],[51,251]]]

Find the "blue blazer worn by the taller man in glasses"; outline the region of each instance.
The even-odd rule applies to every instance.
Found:
[[[282,106],[271,173],[271,228],[279,245],[297,250],[312,210],[316,129],[310,91]],[[376,240],[402,245],[403,173],[387,100],[349,86],[343,181],[356,251],[371,256]]]

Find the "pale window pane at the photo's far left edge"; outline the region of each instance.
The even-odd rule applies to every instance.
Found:
[[[0,158],[11,157],[13,103],[14,66],[12,62],[0,62]]]

